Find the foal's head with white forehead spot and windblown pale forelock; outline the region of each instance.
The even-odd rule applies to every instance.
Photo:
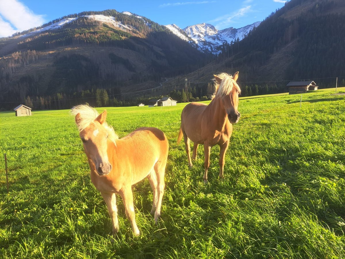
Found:
[[[95,165],[97,173],[99,175],[106,175],[111,171],[111,164],[109,163],[107,154],[107,139],[109,133],[111,134],[109,132],[111,128],[105,122],[107,111],[98,115],[95,109],[85,106],[76,106],[72,109],[72,113],[76,114],[76,123],[79,128],[79,136],[84,145],[85,154]],[[85,112],[88,109],[89,111]],[[91,119],[86,119],[85,115],[87,112],[93,113]],[[94,118],[96,116],[95,113],[98,115],[96,118]]]

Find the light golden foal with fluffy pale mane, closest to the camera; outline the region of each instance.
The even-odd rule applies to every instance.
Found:
[[[148,178],[153,202],[151,214],[155,222],[160,216],[164,193],[164,173],[168,158],[168,140],[158,128],[138,128],[119,139],[106,123],[107,111],[101,114],[88,105],[73,107],[79,136],[91,169],[91,181],[107,203],[112,220],[112,232],[118,232],[116,193],[125,205],[135,235],[139,229],[135,221],[131,186]]]

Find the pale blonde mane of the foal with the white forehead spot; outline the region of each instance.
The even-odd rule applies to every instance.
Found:
[[[96,111],[96,109],[92,108],[91,106],[87,104],[81,104],[74,106],[70,113],[73,116],[76,116],[79,113],[79,119],[80,121],[77,124],[79,132],[82,130],[85,130],[87,126],[89,126],[95,119],[98,117],[99,113]],[[109,139],[115,143],[115,140],[119,138],[119,136],[115,133],[114,128],[109,126],[106,122],[102,124],[103,127],[106,128],[109,134]]]

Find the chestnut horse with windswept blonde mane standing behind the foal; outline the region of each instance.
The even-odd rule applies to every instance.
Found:
[[[186,144],[189,167],[193,164],[190,159],[189,141],[194,142],[193,159],[196,160],[199,144],[204,144],[205,173],[204,182],[207,182],[207,171],[210,165],[210,150],[214,145],[220,146],[219,178],[224,178],[225,153],[229,146],[233,126],[237,123],[240,113],[237,111],[238,94],[241,92],[236,81],[238,72],[234,76],[226,73],[214,75],[217,85],[216,94],[209,105],[203,103],[187,104],[181,114],[181,127],[177,144],[182,137]]]

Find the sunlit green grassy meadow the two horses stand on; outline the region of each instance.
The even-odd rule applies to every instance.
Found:
[[[0,113],[10,180],[7,193],[1,158],[0,257],[345,258],[345,95],[332,94],[303,94],[302,108],[300,95],[240,98],[225,179],[215,146],[208,184],[203,146],[190,170],[184,143],[176,145],[186,104],[107,107],[120,137],[155,126],[170,145],[158,226],[145,179],[133,186],[141,236],[133,237],[118,196],[114,243],[69,111]]]

